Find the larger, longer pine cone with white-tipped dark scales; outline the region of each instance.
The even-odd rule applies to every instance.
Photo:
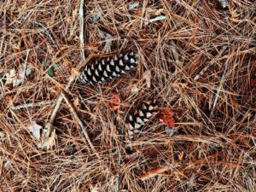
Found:
[[[131,52],[110,58],[101,58],[89,66],[86,65],[79,75],[79,80],[85,84],[96,84],[114,79],[136,67],[137,57]]]

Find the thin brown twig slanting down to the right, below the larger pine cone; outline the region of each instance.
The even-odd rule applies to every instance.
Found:
[[[73,105],[68,101],[67,96],[65,95],[65,93],[63,91],[61,91],[61,96],[64,98],[65,102],[67,102],[68,108],[70,109],[70,111],[73,113],[74,118],[78,121],[83,133],[84,133],[84,137],[86,138],[87,142],[90,145],[90,148],[92,149],[92,151],[96,154],[97,158],[101,159],[100,155],[97,153],[96,148],[94,148],[93,144],[90,141],[90,137],[86,131],[86,128],[84,127],[83,122],[81,121],[81,119],[79,119],[79,115],[78,113],[76,113],[75,109],[73,108]]]

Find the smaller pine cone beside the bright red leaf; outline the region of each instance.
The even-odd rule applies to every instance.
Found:
[[[143,102],[134,113],[129,114],[127,124],[129,125],[128,135],[131,140],[134,138],[134,134],[141,131],[143,125],[156,113],[156,108],[155,102]]]

